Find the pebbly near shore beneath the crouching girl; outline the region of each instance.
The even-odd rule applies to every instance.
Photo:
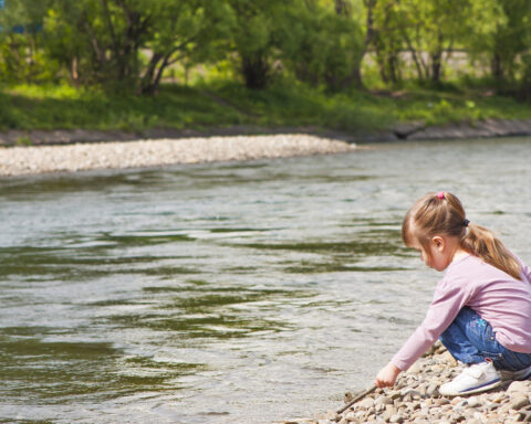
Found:
[[[330,411],[313,418],[289,420],[284,424],[509,424],[531,422],[531,381],[508,382],[504,386],[469,396],[447,398],[438,386],[454,379],[461,367],[437,343],[394,388],[376,389],[342,414]],[[345,402],[352,394],[345,395]]]

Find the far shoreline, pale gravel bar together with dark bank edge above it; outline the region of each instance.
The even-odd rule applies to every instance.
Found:
[[[461,123],[439,127],[410,123],[367,134],[252,126],[143,134],[10,130],[0,132],[0,177],[343,153],[354,151],[356,144],[516,136],[531,136],[531,119],[489,119],[473,126]]]

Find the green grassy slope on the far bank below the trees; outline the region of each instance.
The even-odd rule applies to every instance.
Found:
[[[304,126],[364,132],[396,123],[475,123],[531,117],[531,103],[496,96],[480,87],[410,85],[381,94],[330,94],[284,81],[266,91],[238,83],[185,87],[163,85],[153,97],[110,95],[66,85],[4,87],[0,129],[209,129],[235,125]]]

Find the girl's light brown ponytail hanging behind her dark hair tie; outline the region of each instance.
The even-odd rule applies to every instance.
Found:
[[[485,226],[468,224],[468,232],[460,241],[461,247],[483,262],[503,271],[514,279],[521,279],[521,265],[494,234]]]

